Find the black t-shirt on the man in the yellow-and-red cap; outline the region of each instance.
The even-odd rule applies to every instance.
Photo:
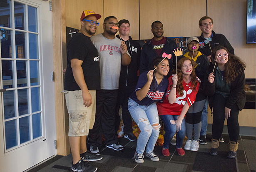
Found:
[[[64,90],[81,90],[75,82],[70,60],[77,58],[82,63],[85,83],[88,90],[100,90],[99,56],[90,37],[76,33],[67,44],[67,70],[65,73]]]

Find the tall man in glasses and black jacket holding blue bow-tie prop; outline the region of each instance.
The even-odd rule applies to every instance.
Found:
[[[223,34],[215,34],[212,30],[213,28],[213,19],[208,16],[204,16],[199,20],[199,29],[201,29],[202,34],[199,36],[199,51],[207,56],[209,62],[211,61],[211,52],[216,46],[226,47],[230,53],[234,54],[234,48],[231,46],[229,41]],[[200,144],[207,144],[206,141],[206,132],[207,132],[207,114],[208,114],[208,99],[204,104],[204,109],[201,115],[202,127],[199,138]],[[220,142],[224,142],[221,138]]]

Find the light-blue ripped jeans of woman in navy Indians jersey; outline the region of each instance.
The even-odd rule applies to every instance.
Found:
[[[146,145],[146,153],[153,152],[160,131],[156,102],[144,106],[129,99],[128,110],[141,131],[137,141],[137,153],[143,154]]]

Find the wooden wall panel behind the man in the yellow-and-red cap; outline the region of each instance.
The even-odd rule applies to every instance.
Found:
[[[65,0],[66,3],[66,26],[76,29],[81,28],[80,17],[84,10],[92,10],[102,17],[98,20],[99,26],[96,34],[102,33],[104,20],[103,0]]]

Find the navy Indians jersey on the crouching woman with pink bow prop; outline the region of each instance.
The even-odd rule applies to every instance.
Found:
[[[159,83],[158,86],[157,86],[157,80],[155,80],[155,83],[152,81],[149,91],[147,92],[147,96],[141,101],[139,101],[137,99],[136,92],[142,89],[142,87],[144,87],[144,85],[147,83],[147,73],[148,71],[139,75],[139,80],[135,88],[135,91],[130,96],[130,98],[134,100],[136,103],[140,105],[146,105],[146,106],[162,100],[164,97],[164,93],[167,91],[167,87],[169,84],[168,79],[166,77],[163,78],[163,80]],[[155,90],[156,90],[155,92],[154,92],[153,83],[155,84]]]

